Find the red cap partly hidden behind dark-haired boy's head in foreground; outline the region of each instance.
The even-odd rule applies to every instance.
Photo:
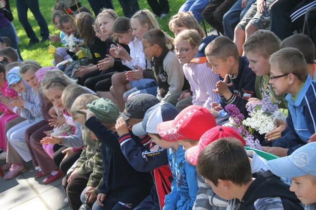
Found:
[[[185,157],[187,162],[192,165],[197,165],[197,157],[201,150],[211,142],[225,137],[236,138],[237,140],[240,140],[243,146],[246,144],[246,141],[233,128],[226,126],[216,126],[203,134],[198,142],[198,145],[186,150]]]

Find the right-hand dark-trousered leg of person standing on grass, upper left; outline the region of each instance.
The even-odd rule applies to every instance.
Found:
[[[42,37],[42,40],[48,39],[48,36],[49,36],[48,26],[47,26],[44,16],[40,12],[39,0],[24,0],[24,2],[26,3],[27,7],[31,10],[36,21],[38,22],[40,26],[40,35]]]

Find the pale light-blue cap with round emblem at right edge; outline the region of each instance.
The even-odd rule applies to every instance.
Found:
[[[280,177],[316,176],[316,142],[296,149],[289,156],[267,161],[267,166]]]

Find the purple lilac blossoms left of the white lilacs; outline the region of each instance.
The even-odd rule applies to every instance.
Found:
[[[235,129],[235,131],[237,131],[246,141],[246,146],[262,150],[260,141],[258,139],[255,139],[255,137],[252,135],[254,130],[250,128],[249,131],[249,127],[243,124],[245,117],[243,116],[243,114],[240,113],[240,110],[236,107],[236,105],[226,105],[225,110],[230,115],[230,123],[227,123],[224,126],[230,126]]]

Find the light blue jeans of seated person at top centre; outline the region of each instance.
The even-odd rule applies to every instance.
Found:
[[[197,22],[202,20],[202,11],[211,0],[187,0],[180,7],[179,12],[192,12]]]

